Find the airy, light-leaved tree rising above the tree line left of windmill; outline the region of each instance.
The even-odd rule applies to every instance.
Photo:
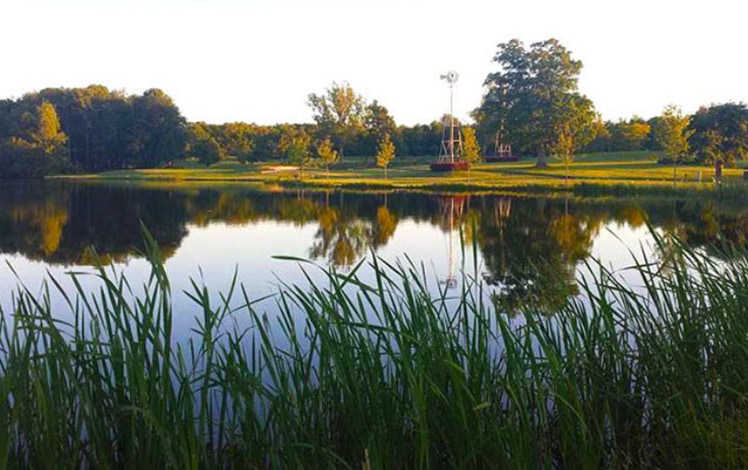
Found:
[[[309,95],[314,121],[323,135],[332,137],[343,157],[344,148],[364,128],[366,102],[348,83],[333,82],[325,93]]]

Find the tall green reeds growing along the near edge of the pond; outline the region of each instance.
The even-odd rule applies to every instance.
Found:
[[[150,240],[144,286],[101,268],[97,292],[51,279],[0,315],[0,466],[746,467],[748,264],[668,249],[633,264],[640,288],[592,266],[551,317],[377,258],[268,314],[238,282],[193,283],[174,338]]]

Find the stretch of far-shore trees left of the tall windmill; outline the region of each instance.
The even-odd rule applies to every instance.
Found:
[[[340,157],[372,157],[384,135],[399,155],[433,155],[439,146],[439,121],[398,126],[384,106],[367,103],[348,84],[333,84],[327,93],[319,100],[310,95],[310,106],[318,107],[315,124],[269,126],[188,122],[158,89],[127,95],[101,85],[47,88],[0,100],[0,177],[154,168],[183,158],[207,165],[295,159],[324,154],[325,145]]]

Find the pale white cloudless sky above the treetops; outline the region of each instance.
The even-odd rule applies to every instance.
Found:
[[[310,122],[347,81],[399,124],[478,106],[496,45],[558,38],[605,119],[748,101],[743,0],[0,0],[0,98],[161,88],[189,120]]]

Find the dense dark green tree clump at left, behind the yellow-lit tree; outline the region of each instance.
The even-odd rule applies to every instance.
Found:
[[[69,161],[79,169],[156,166],[184,152],[186,123],[168,96],[159,90],[128,96],[101,85],[47,88],[3,102],[0,141],[27,139],[36,109],[45,102],[54,107],[68,138]]]

